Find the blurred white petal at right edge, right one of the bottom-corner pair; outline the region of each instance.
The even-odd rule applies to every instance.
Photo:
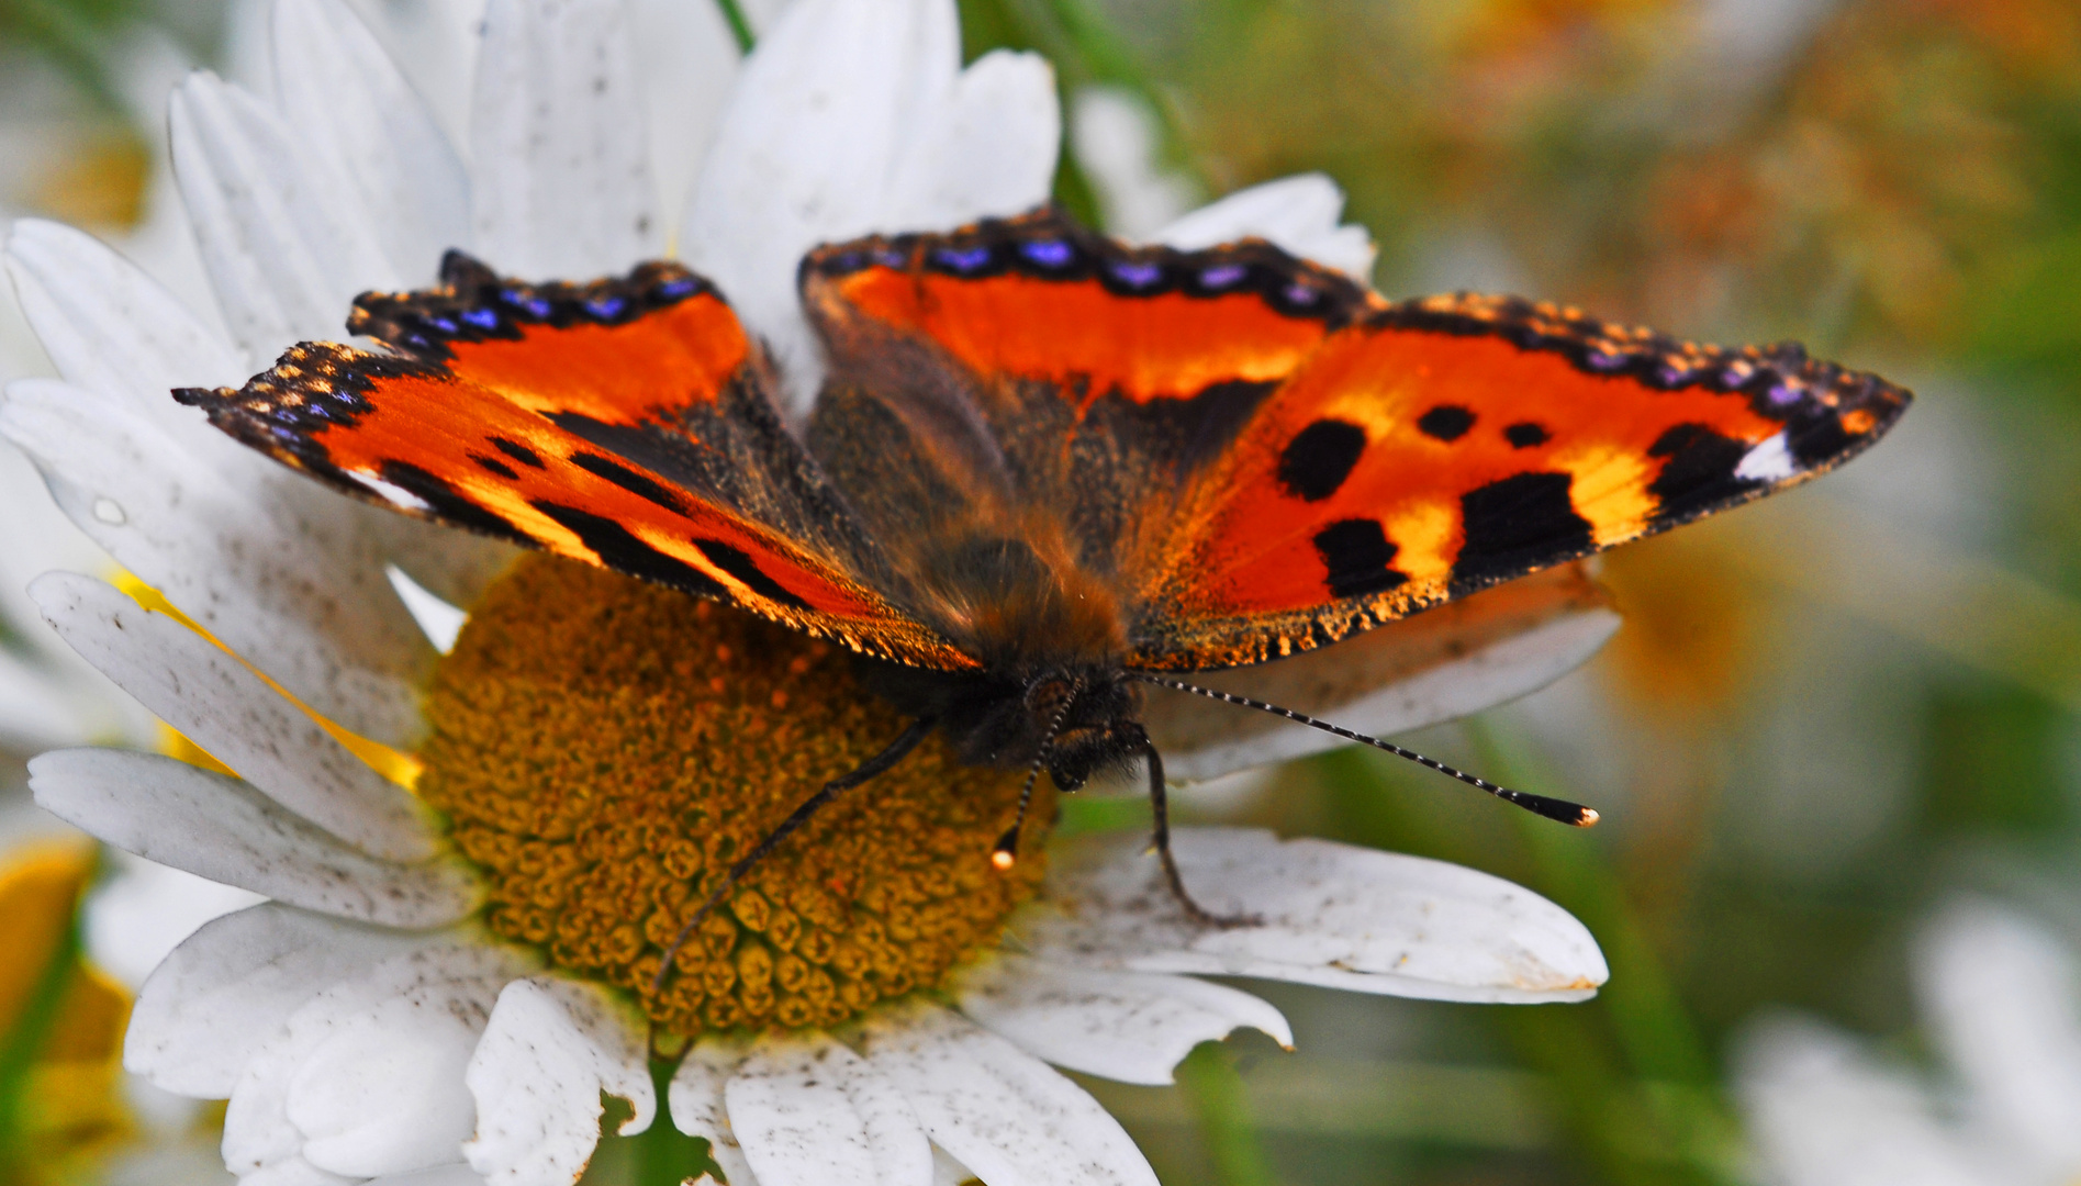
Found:
[[[1915,949],[1925,1026],[1975,1119],[2046,1180],[2081,1169],[2081,968],[2044,924],[1967,901]]]

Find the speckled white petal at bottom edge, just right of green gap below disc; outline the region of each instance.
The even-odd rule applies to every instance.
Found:
[[[724,1103],[766,1186],[930,1186],[932,1146],[909,1101],[828,1034],[760,1038]]]

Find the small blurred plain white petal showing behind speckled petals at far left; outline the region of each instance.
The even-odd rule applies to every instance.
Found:
[[[262,901],[252,891],[123,851],[110,851],[106,859],[108,876],[81,907],[81,940],[87,959],[131,992],[204,924]]]

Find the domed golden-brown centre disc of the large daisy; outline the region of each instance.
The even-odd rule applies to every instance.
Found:
[[[656,990],[730,863],[907,722],[839,647],[554,558],[485,593],[427,716],[418,791],[481,866],[485,924],[631,992],[662,1034],[834,1026],[932,988],[1047,868],[1053,801],[997,866],[1022,772],[932,737],[755,866]]]

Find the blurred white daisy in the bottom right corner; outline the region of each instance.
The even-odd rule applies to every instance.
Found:
[[[2060,1186],[2081,1176],[2081,955],[2044,922],[1958,901],[1912,951],[1944,1076],[1825,1022],[1742,1040],[1738,1088],[1781,1186]]]

